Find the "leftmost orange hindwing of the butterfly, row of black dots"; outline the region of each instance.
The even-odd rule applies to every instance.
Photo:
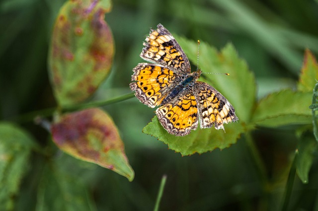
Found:
[[[159,106],[169,91],[181,81],[178,74],[156,64],[140,63],[133,69],[130,83],[140,102],[151,108]]]

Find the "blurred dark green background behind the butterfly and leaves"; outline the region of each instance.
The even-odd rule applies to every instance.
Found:
[[[54,107],[48,80],[47,53],[52,27],[64,0],[0,2],[0,117],[14,117]],[[116,0],[106,14],[113,31],[112,72],[92,100],[129,93],[132,69],[150,27],[163,24],[172,34],[202,40],[221,49],[234,44],[257,81],[257,96],[295,87],[305,48],[318,55],[318,1],[315,0]],[[218,70],[203,70],[217,72]],[[160,179],[167,182],[160,210],[279,210],[291,157],[297,144],[293,127],[259,129],[253,134],[266,165],[269,185],[262,184],[244,137],[230,148],[181,157],[157,139],[143,134],[154,109],[136,98],[105,106],[112,116],[135,170],[135,180],[57,153],[60,162],[88,187],[97,210],[152,210]],[[32,120],[20,123],[45,148],[49,135]],[[318,160],[309,184],[296,178],[290,210],[318,210]],[[17,210],[34,210],[37,179],[44,157],[34,154],[17,196]],[[94,207],[93,206],[93,207]],[[27,209],[26,209],[27,208]]]

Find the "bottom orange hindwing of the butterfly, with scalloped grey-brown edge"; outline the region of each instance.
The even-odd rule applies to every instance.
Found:
[[[193,86],[183,89],[171,102],[159,107],[156,114],[162,127],[174,136],[185,136],[198,127],[198,108]]]

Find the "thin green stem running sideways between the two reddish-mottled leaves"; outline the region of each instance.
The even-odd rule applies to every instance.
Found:
[[[127,99],[132,98],[132,97],[134,97],[134,93],[129,93],[129,94],[125,94],[125,95],[115,97],[112,99],[108,99],[108,100],[66,106],[66,107],[62,108],[61,110],[62,110],[62,112],[70,112],[70,111],[82,110],[82,109],[87,109],[87,108],[106,106],[109,104],[113,104],[113,103],[127,100]],[[32,112],[14,117],[13,121],[19,122],[19,123],[30,122],[30,121],[33,121],[34,118],[37,116],[40,116],[40,117],[52,116],[56,110],[58,110],[58,107],[52,107],[52,108],[46,108],[46,109],[42,109],[42,110],[38,110],[38,111],[32,111]]]

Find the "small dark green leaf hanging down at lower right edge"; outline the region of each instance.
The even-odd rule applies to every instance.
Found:
[[[308,183],[308,174],[313,164],[313,153],[317,150],[317,141],[308,136],[302,137],[297,150],[299,153],[296,161],[297,175],[303,183]]]

